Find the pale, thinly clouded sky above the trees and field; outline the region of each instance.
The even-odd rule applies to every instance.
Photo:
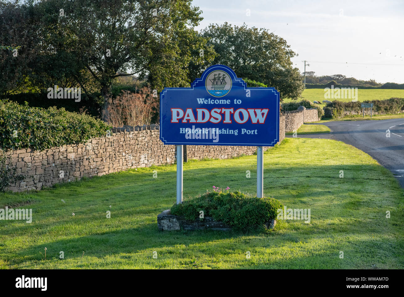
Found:
[[[194,0],[210,23],[259,27],[284,38],[294,67],[316,75],[404,83],[404,0]],[[249,11],[248,11],[249,10]],[[249,13],[249,15],[248,15]]]

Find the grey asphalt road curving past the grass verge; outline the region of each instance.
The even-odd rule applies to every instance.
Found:
[[[331,133],[297,135],[329,138],[357,147],[389,169],[404,188],[404,118],[322,123]],[[390,137],[386,137],[387,130]]]

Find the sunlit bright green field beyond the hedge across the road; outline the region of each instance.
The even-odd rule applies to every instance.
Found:
[[[362,102],[365,100],[385,100],[392,97],[404,98],[404,90],[391,90],[391,89],[358,89],[358,101]],[[323,88],[307,88],[302,93],[302,98],[307,99],[311,102],[314,100],[322,103],[323,100],[339,100],[344,102],[350,102],[352,99],[325,99]],[[292,100],[285,99],[283,102],[290,102]],[[322,104],[325,105],[325,104]]]

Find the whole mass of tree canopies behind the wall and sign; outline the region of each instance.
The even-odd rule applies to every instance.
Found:
[[[290,61],[296,54],[286,40],[245,24],[197,32],[201,13],[191,0],[0,0],[0,95],[81,87],[107,120],[117,78],[146,78],[161,91],[187,87],[207,67],[224,64],[283,97],[299,97],[301,77]]]

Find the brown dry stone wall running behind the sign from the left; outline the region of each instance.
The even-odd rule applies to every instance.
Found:
[[[285,138],[285,117],[280,117],[280,141]],[[269,147],[264,147],[267,150]],[[188,159],[228,159],[242,154],[252,155],[257,147],[188,145]],[[48,150],[31,149],[7,152],[8,166],[25,176],[8,190],[21,192],[40,190],[63,183],[118,172],[126,169],[173,164],[176,146],[164,145],[158,126],[124,126],[114,128],[110,137],[89,139],[86,143],[63,145]],[[10,164],[11,163],[11,164]]]

